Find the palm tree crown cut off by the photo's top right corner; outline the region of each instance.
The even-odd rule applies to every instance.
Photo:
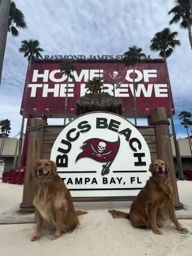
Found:
[[[175,0],[175,7],[168,12],[173,13],[173,19],[170,20],[170,25],[180,22],[180,28],[188,29],[189,42],[192,49],[192,35],[191,35],[191,8],[189,0]]]

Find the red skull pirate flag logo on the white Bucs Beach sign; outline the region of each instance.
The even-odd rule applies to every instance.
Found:
[[[118,136],[118,140],[115,142],[102,140],[99,138],[92,138],[84,141],[81,149],[81,152],[77,158],[76,162],[82,157],[90,157],[95,161],[103,162],[106,164],[102,165],[101,174],[105,175],[109,173],[109,167],[113,163],[113,160],[116,157],[118,152],[118,148],[120,146],[120,138]]]

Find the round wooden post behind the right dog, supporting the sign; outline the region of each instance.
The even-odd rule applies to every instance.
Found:
[[[170,132],[167,120],[166,108],[153,108],[150,116],[150,124],[154,125],[157,141],[157,156],[169,164],[170,167],[170,182],[173,186],[175,195],[175,210],[183,209],[183,204],[179,202],[179,194],[175,176],[175,168],[173,163],[172,145],[170,141]]]

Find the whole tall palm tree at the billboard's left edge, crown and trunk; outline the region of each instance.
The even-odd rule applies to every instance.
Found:
[[[22,113],[22,123],[20,127],[20,138],[19,138],[19,152],[18,152],[18,162],[17,166],[20,166],[21,163],[21,152],[22,152],[22,139],[23,139],[23,130],[24,130],[24,120],[26,116],[26,100],[28,96],[28,84],[29,84],[29,74],[31,70],[31,63],[33,58],[42,58],[40,52],[44,51],[40,48],[40,42],[38,40],[22,40],[19,48],[20,52],[24,53],[24,57],[28,57],[28,76],[26,78],[26,89],[24,93],[24,104],[23,104],[23,113]]]

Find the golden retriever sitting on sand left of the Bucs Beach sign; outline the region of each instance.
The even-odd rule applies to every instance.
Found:
[[[70,191],[57,173],[56,163],[49,159],[36,161],[35,196],[36,230],[31,241],[40,239],[41,228],[47,223],[55,228],[52,240],[58,239],[61,232],[73,230],[79,224],[77,215],[87,212],[75,211]]]

